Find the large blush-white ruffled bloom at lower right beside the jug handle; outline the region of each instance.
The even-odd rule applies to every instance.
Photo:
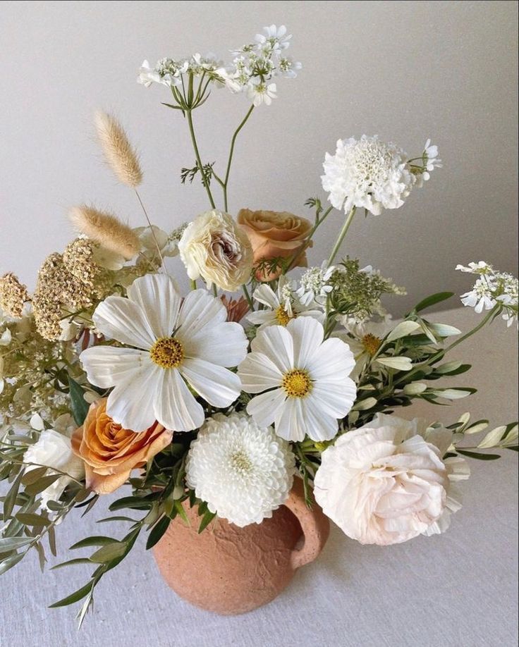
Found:
[[[443,460],[451,440],[448,429],[379,414],[323,452],[315,500],[360,543],[443,532],[460,508],[451,481],[470,474],[463,458]]]

